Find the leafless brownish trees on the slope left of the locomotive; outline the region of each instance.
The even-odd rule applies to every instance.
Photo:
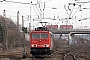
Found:
[[[0,23],[1,23],[2,28],[5,29],[7,27],[8,48],[22,46],[24,37],[23,37],[22,33],[17,30],[18,29],[17,25],[10,18],[4,18],[3,16],[0,16]],[[4,27],[4,24],[6,24],[5,25],[6,27]],[[5,33],[3,32],[3,34],[5,34]],[[17,35],[19,35],[18,39],[17,39]],[[3,35],[3,37],[5,37],[5,36]]]

